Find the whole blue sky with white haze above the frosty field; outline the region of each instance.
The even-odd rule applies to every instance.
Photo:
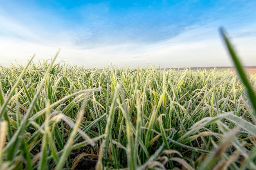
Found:
[[[0,65],[231,66],[220,26],[256,65],[256,0],[0,0]]]

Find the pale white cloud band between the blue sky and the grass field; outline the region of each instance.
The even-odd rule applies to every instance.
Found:
[[[22,62],[36,53],[35,61],[50,59],[61,48],[58,61],[66,61],[72,65],[85,67],[116,66],[141,68],[154,64],[162,68],[195,67],[195,66],[230,66],[231,61],[218,34],[218,26],[224,22],[219,20],[204,26],[194,26],[186,32],[170,40],[151,44],[120,44],[92,49],[81,49],[70,40],[63,41],[66,33],[59,33],[52,38],[44,34],[35,34],[31,29],[6,16],[0,17],[1,30],[10,35],[0,38],[0,64],[8,66],[9,62]],[[234,29],[227,28],[230,35],[250,32],[256,25]],[[0,30],[0,32],[1,32]],[[9,31],[9,32],[8,32]],[[15,36],[14,36],[15,35]],[[16,36],[18,35],[18,36]],[[24,38],[19,38],[24,37]],[[18,37],[18,38],[17,38]],[[65,39],[65,38],[64,38]],[[256,65],[255,37],[240,36],[233,39],[245,65]]]

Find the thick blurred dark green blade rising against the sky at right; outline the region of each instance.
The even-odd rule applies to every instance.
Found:
[[[229,54],[236,66],[238,75],[240,76],[240,79],[242,80],[243,84],[245,85],[245,88],[247,89],[248,97],[252,104],[252,107],[254,108],[254,115],[256,116],[256,95],[254,93],[254,90],[253,90],[253,88],[247,78],[247,75],[245,73],[245,70],[243,69],[243,66],[242,66],[238,56],[236,55],[236,52],[235,52],[231,42],[229,41],[229,38],[227,37],[225,30],[223,28],[220,28],[220,35],[223,38],[223,40],[227,46],[227,49],[229,51]]]

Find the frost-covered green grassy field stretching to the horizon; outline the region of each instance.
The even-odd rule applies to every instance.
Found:
[[[236,73],[1,67],[0,169],[256,169],[256,76],[222,36]]]

